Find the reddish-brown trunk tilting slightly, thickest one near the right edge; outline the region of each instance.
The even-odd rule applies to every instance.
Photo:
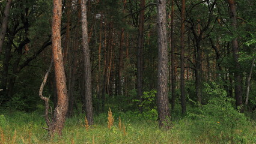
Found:
[[[236,4],[234,0],[228,0],[228,5],[230,7],[230,19],[231,19],[231,26],[233,29],[233,32],[237,31],[237,20],[236,20]],[[233,59],[235,62],[235,67],[237,70],[234,71],[234,85],[235,85],[235,97],[236,97],[236,106],[242,106],[243,104],[243,99],[242,99],[242,86],[241,86],[241,81],[242,77],[240,74],[240,64],[238,62],[239,59],[239,47],[238,47],[238,42],[237,38],[234,38],[231,41],[232,45],[232,50],[233,50]]]

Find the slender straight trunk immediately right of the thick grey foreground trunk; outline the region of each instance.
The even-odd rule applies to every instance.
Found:
[[[175,108],[174,0],[171,1],[171,109]]]

